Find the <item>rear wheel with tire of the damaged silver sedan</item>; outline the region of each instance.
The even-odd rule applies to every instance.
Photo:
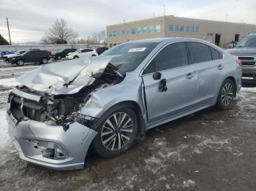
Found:
[[[236,86],[231,79],[225,79],[220,87],[217,98],[217,109],[227,110],[233,106],[234,98],[236,96]]]

